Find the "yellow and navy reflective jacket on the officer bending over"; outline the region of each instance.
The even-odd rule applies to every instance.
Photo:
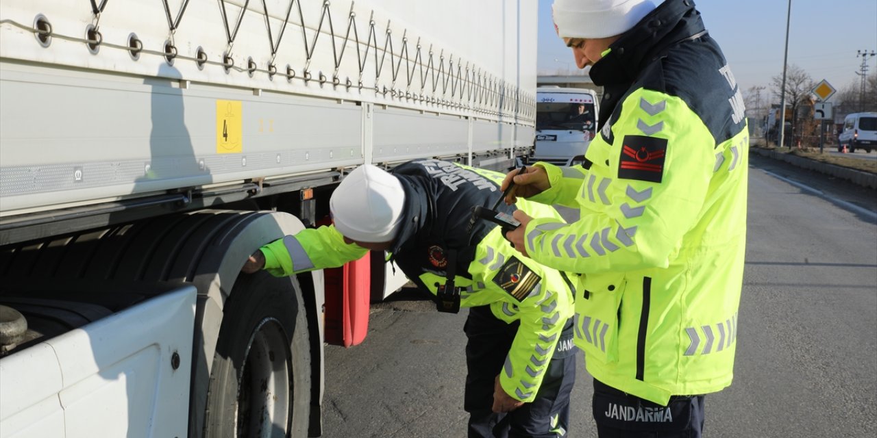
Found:
[[[433,212],[433,215],[442,216],[443,220],[440,221],[434,217],[414,221],[420,223],[421,228],[400,233],[411,244],[395,245],[396,248],[403,248],[403,251],[396,253],[396,257],[406,258],[405,264],[399,263],[403,272],[435,294],[437,286],[445,284],[441,262],[446,262],[444,251],[451,248],[441,248],[442,245],[447,246],[444,241],[432,242],[430,237],[424,235],[441,237],[465,233],[465,227],[460,230],[453,223],[447,224],[444,221],[446,216],[465,213],[467,221],[474,203],[491,207],[500,196],[498,183],[504,175],[434,159],[413,161],[397,168],[394,174],[403,182],[406,191],[406,215],[411,215],[411,210],[421,202],[431,206],[453,205],[453,208],[459,208],[456,212]],[[466,178],[455,179],[461,174]],[[484,190],[485,187],[493,189]],[[452,202],[446,204],[442,201],[444,199]],[[547,215],[553,220],[561,220],[554,208],[535,202],[524,201],[518,208],[533,215]],[[403,223],[412,221],[405,220]],[[431,226],[435,223],[446,224],[442,226],[453,230],[435,230]],[[338,267],[367,253],[356,244],[345,244],[344,237],[332,226],[302,230],[295,236],[287,236],[263,246],[261,251],[266,258],[265,268],[276,276]],[[417,269],[412,269],[412,259],[418,260],[413,264]],[[511,397],[524,402],[532,401],[548,361],[555,347],[558,347],[560,332],[573,314],[573,294],[569,283],[560,272],[522,257],[504,239],[499,227],[490,230],[476,244],[466,272],[458,272],[455,283],[462,288],[461,307],[489,305],[500,320],[509,323],[520,321],[503,370],[496,372],[500,375],[503,389]]]

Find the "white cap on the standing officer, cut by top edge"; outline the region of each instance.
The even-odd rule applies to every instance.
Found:
[[[554,25],[560,38],[621,35],[655,9],[651,0],[554,0]]]

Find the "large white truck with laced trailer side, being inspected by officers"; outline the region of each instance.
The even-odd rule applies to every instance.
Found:
[[[0,437],[322,434],[338,291],[241,265],[326,216],[354,166],[530,152],[536,17],[535,0],[0,3]]]

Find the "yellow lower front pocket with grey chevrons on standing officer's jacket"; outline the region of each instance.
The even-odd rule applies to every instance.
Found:
[[[575,342],[584,350],[586,360],[609,364],[618,360],[618,309],[624,294],[625,280],[612,281],[612,291],[605,288],[588,293],[587,300],[575,302]]]

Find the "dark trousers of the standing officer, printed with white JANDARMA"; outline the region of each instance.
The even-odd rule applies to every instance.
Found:
[[[600,438],[701,438],[703,396],[674,395],[667,406],[594,379],[594,420]]]

